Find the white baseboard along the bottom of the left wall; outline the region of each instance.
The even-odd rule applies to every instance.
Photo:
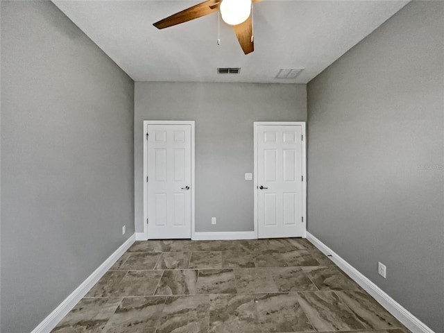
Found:
[[[80,286],[74,290],[63,302],[60,303],[54,311],[51,312],[44,321],[40,323],[31,333],[48,333],[65,317],[69,311],[87,294],[94,284],[105,274],[111,266],[117,262],[117,259],[133,245],[135,241],[135,234],[128,238],[117,250],[108,257],[91,275],[89,275]]]

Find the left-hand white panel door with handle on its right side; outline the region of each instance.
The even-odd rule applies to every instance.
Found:
[[[191,126],[147,133],[148,239],[191,238]]]

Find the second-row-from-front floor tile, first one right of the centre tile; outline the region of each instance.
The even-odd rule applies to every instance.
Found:
[[[278,291],[268,268],[234,268],[238,293],[273,293]]]

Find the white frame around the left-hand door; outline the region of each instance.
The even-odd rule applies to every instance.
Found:
[[[144,239],[149,239],[148,234],[148,125],[190,125],[191,126],[191,239],[194,239],[194,121],[172,120],[144,120]]]

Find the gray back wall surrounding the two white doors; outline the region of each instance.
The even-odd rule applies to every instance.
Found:
[[[305,85],[135,83],[135,218],[143,230],[143,121],[196,121],[196,231],[252,231],[253,121],[305,121]],[[216,216],[217,224],[211,224]]]

